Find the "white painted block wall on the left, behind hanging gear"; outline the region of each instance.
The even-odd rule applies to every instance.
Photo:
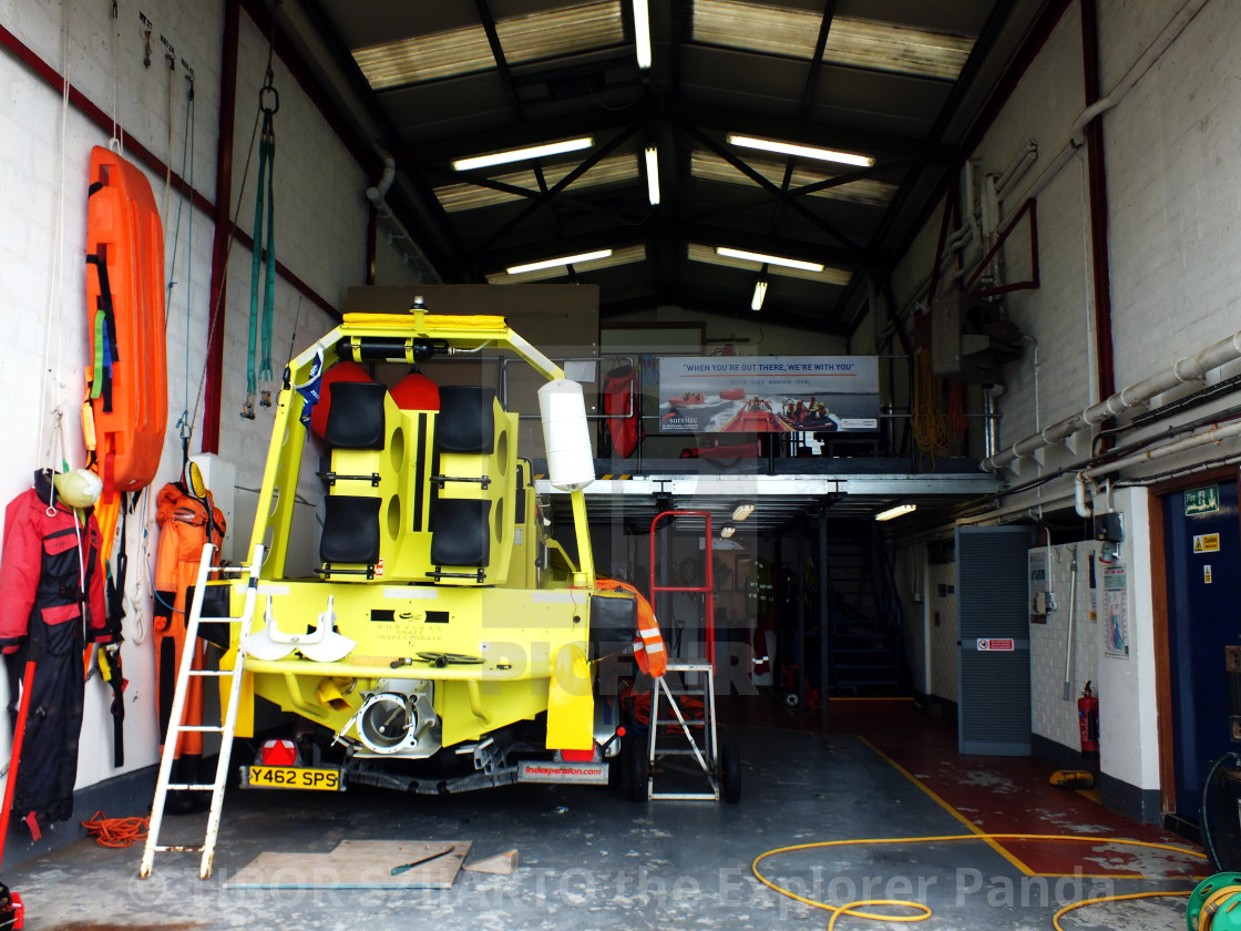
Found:
[[[186,93],[180,58],[192,66],[195,107],[192,128],[192,180],[208,199],[215,196],[215,153],[218,127],[220,50],[222,4],[144,5],[120,0],[117,67],[113,67],[114,25],[105,2],[72,2],[68,16],[56,4],[31,4],[0,0],[0,22],[63,72],[62,52],[67,22],[69,81],[104,112],[119,113],[125,135],[137,139],[156,156],[182,171]],[[143,67],[143,41],[139,9],[154,21],[153,65]],[[164,65],[164,46],[159,36],[172,42],[179,66],[171,97]],[[231,215],[241,187],[244,150],[257,106],[258,86],[267,61],[266,41],[242,16],[241,65],[237,102],[237,160],[233,171],[233,202],[223,205]],[[290,271],[323,294],[340,303],[345,289],[362,283],[365,273],[366,202],[369,179],[352,161],[326,120],[302,93],[292,77],[277,63],[280,113],[277,115],[277,254]],[[114,79],[115,78],[115,79]],[[119,82],[119,94],[115,83]],[[34,469],[48,462],[50,449],[40,448],[41,428],[51,423],[51,411],[60,407],[65,417],[67,456],[73,466],[84,461],[78,408],[84,386],[87,362],[84,271],[82,251],[86,242],[86,182],[89,149],[105,145],[108,133],[71,109],[61,144],[61,98],[14,57],[0,55],[0,314],[9,333],[9,351],[0,366],[0,396],[6,398],[5,436],[10,454],[0,457],[0,499],[16,497],[30,485]],[[171,113],[171,120],[170,120]],[[58,190],[63,164],[63,248],[53,250]],[[257,168],[257,166],[256,166]],[[254,169],[252,169],[253,171]],[[185,160],[184,174],[190,174]],[[212,222],[185,205],[180,226],[176,221],[177,191],[168,192],[165,179],[148,173],[165,225],[165,257],[169,278],[175,282],[168,307],[169,428],[164,457],[153,490],[172,480],[180,470],[180,443],[175,421],[182,408],[195,423],[196,449],[201,434],[204,356],[207,343]],[[252,174],[240,214],[243,228],[253,216],[254,175]],[[166,204],[166,206],[165,206]],[[191,232],[192,230],[192,232]],[[172,243],[176,241],[174,261]],[[221,415],[221,456],[237,467],[237,484],[257,488],[269,439],[271,411],[254,423],[237,416],[244,395],[246,328],[249,304],[249,252],[235,245],[230,259],[226,325],[226,359]],[[60,262],[58,271],[56,262]],[[50,300],[56,293],[57,298]],[[297,315],[295,350],[300,350],[330,328],[331,320],[309,300],[298,310],[298,294],[278,281],[277,315],[272,361],[277,377],[288,359]],[[45,362],[45,339],[51,344]],[[45,379],[45,369],[50,370]],[[46,403],[42,401],[47,391]],[[314,490],[308,483],[303,490]],[[315,495],[316,497],[316,495]],[[244,492],[238,506],[246,506]],[[150,525],[150,506],[140,508]],[[299,515],[311,526],[309,509]],[[248,533],[249,519],[237,520],[236,535]],[[125,770],[149,766],[156,760],[156,721],[154,657],[146,632],[150,629],[149,577],[154,535],[148,547],[139,545],[141,534],[130,523],[130,597],[141,605],[138,614],[127,619],[127,765]],[[316,541],[307,534],[308,551]],[[238,541],[244,542],[244,541]],[[109,696],[98,679],[87,688],[86,717],[79,755],[78,785],[88,786],[112,778],[112,725],[107,711]],[[0,730],[7,727],[0,721]],[[7,735],[0,734],[0,742]]]

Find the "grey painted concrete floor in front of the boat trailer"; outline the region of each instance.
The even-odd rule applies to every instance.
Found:
[[[761,885],[751,875],[757,855],[846,838],[968,833],[958,812],[861,737],[755,726],[733,726],[728,734],[743,758],[737,804],[633,803],[604,788],[551,786],[447,798],[366,788],[333,796],[235,791],[226,799],[210,880],[197,878],[196,857],[171,853],[159,854],[155,874],[139,880],[139,847],[104,849],[81,840],[6,870],[5,881],[26,902],[27,929],[62,931],[808,929],[824,927],[830,914]],[[978,792],[987,792],[988,780],[978,776],[987,760],[970,757],[968,766]],[[1054,799],[1061,791],[1050,792]],[[1050,808],[1049,814],[1056,817]],[[1103,822],[1119,830],[1114,819]],[[1100,825],[1061,818],[1046,833],[1091,827]],[[164,839],[174,840],[177,830],[186,839],[197,830],[201,838],[201,819],[170,817]],[[520,868],[508,876],[462,871],[450,889],[226,886],[263,852],[326,853],[345,839],[467,839],[474,844],[470,860],[516,848]],[[1023,868],[1019,854],[985,842],[814,848],[768,858],[763,870],[819,900],[916,899],[934,912],[921,925],[927,931],[1042,931],[1069,901],[1188,890],[1193,881],[1170,876],[1203,871],[1191,859],[1160,854],[1138,858],[1139,868],[1164,879],[1088,879],[1133,869],[1134,861],[1117,859],[1111,845],[1072,844],[1060,854],[1059,870],[1067,878],[1059,879],[1026,875],[1033,870]],[[1090,906],[1065,925],[1183,927],[1184,899]],[[836,927],[865,926],[879,927],[855,917],[843,917]]]

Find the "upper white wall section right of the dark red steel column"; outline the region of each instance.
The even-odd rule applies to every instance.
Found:
[[[1118,386],[1241,328],[1239,73],[1241,17],[1209,2],[1106,117]]]

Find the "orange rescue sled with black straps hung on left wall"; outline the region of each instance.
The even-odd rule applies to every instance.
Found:
[[[88,202],[86,297],[92,364],[83,426],[87,444],[94,439],[94,468],[103,479],[104,498],[114,498],[150,484],[164,449],[164,230],[146,176],[103,146],[91,150]]]

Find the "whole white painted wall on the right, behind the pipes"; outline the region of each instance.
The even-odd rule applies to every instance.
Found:
[[[1117,0],[1100,5],[1102,91],[1108,93],[1184,6],[1178,0]],[[973,153],[982,171],[1004,170],[1029,139],[1039,143],[1039,160],[1018,184],[1006,214],[1025,190],[1064,150],[1073,120],[1085,106],[1081,68],[1080,9],[1071,5],[1011,99]],[[1180,358],[1241,328],[1241,16],[1236,5],[1207,2],[1196,19],[1140,78],[1118,106],[1104,114],[1114,382],[1121,390]],[[1033,353],[1006,372],[1001,444],[1033,433],[1036,426],[1081,412],[1097,401],[1093,346],[1093,287],[1083,154],[1066,160],[1039,192],[1041,287],[1008,298],[1014,320],[1039,343],[1036,425]],[[938,228],[928,222],[908,257],[895,272],[898,287],[925,279],[926,242]],[[1023,271],[1025,243],[1014,238],[1006,262]],[[903,297],[903,295],[902,295]],[[864,324],[866,325],[866,324]],[[1241,366],[1209,375],[1210,381]],[[1194,415],[1188,415],[1194,416]],[[1160,425],[1165,430],[1170,423]],[[1239,443],[1211,447],[1162,467],[1186,464],[1203,456],[1226,454]],[[1023,480],[1080,463],[1090,453],[1090,436],[1073,448],[1050,447],[1042,463],[1020,461],[1008,478]],[[1140,474],[1140,473],[1139,473]],[[1071,473],[1037,492],[1010,495],[1006,506],[1066,506],[1072,503]],[[1131,566],[1129,660],[1098,657],[1097,628],[1082,624],[1077,642],[1073,690],[1086,673],[1098,674],[1103,715],[1103,768],[1131,785],[1158,786],[1158,741],[1154,710],[1153,605],[1149,591],[1145,492],[1118,492],[1114,506],[1124,516]],[[1102,504],[1102,499],[1101,499]],[[1061,552],[1062,547],[1057,547]],[[1057,566],[1064,567],[1061,559]],[[1062,580],[1066,582],[1066,580]],[[1066,746],[1077,745],[1076,703],[1061,698],[1067,616],[1066,583],[1060,583],[1061,612],[1033,632],[1035,732]],[[1080,597],[1086,597],[1086,590]],[[934,597],[934,591],[928,592]],[[1081,605],[1078,606],[1081,607]],[[942,628],[941,628],[942,631]],[[941,634],[942,637],[942,634]],[[943,638],[946,639],[946,638]],[[1095,650],[1091,653],[1091,650]],[[932,690],[948,689],[951,654],[937,647],[932,631]],[[952,678],[954,685],[954,674]]]

